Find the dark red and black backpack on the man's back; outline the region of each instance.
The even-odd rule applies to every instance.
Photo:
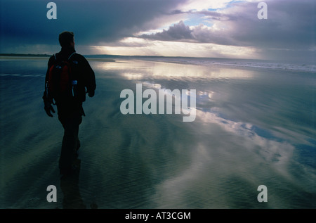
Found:
[[[72,53],[67,60],[58,60],[55,57],[55,63],[48,70],[46,79],[46,97],[51,99],[71,100],[77,97],[77,79],[74,77],[73,65],[77,61],[70,61],[74,55]]]

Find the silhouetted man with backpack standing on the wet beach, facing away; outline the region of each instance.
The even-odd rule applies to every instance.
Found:
[[[52,106],[53,101],[55,101],[58,110],[58,120],[60,120],[65,130],[62,139],[59,168],[60,174],[67,175],[74,172],[74,160],[77,158],[77,150],[80,147],[78,132],[82,115],[84,115],[82,103],[86,101],[86,93],[90,97],[94,96],[96,77],[86,58],[75,53],[73,32],[60,33],[59,42],[61,51],[55,53],[48,60],[43,99],[44,109],[50,117],[53,117],[51,112],[55,113]],[[76,96],[56,96],[55,94],[51,94],[48,86],[48,84],[51,84],[49,83],[51,72],[54,66],[60,63],[60,61],[67,61],[67,64],[71,68],[72,79],[76,79],[76,82],[72,83],[76,84]]]

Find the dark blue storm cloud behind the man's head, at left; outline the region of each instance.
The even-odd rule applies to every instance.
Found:
[[[1,1],[1,48],[16,44],[58,44],[71,30],[80,44],[97,45],[157,28],[154,18],[170,13],[181,0],[53,1],[57,20],[48,20],[49,1]],[[58,41],[58,40],[57,40]]]

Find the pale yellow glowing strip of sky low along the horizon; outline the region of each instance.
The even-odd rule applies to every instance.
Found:
[[[188,57],[228,57],[260,58],[260,52],[251,47],[198,44],[189,42],[164,42],[159,40],[129,37],[119,42],[119,46],[93,46],[96,54],[123,56],[188,56]]]

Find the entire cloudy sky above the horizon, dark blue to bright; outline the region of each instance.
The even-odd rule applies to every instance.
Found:
[[[0,0],[0,53],[253,58],[315,64],[316,0]],[[259,19],[258,3],[267,5]]]

